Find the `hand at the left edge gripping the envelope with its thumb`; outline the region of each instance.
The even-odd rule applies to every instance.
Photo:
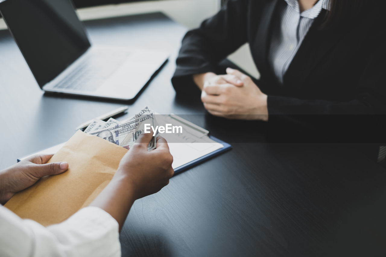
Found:
[[[60,174],[68,169],[67,162],[46,162],[53,154],[32,156],[0,171],[0,203],[5,204],[15,193],[35,184],[47,175]]]

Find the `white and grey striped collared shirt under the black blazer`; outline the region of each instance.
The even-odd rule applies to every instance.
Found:
[[[283,77],[298,51],[313,21],[322,9],[330,10],[330,0],[319,0],[312,8],[300,13],[298,0],[285,1],[279,6],[280,20],[276,21],[269,47],[269,64],[276,78]]]

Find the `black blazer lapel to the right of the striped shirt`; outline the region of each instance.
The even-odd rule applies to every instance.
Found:
[[[304,81],[311,75],[313,69],[339,41],[341,34],[337,30],[320,29],[325,12],[326,10],[322,10],[311,25],[284,75],[284,86],[288,85],[291,90],[303,86]]]

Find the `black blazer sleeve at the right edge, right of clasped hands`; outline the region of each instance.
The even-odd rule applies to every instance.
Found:
[[[357,85],[353,85],[355,97],[349,101],[268,96],[269,135],[303,142],[386,142],[384,38],[383,30],[369,39],[364,69]]]

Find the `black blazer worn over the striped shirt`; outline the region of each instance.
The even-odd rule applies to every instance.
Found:
[[[386,30],[379,8],[345,27],[323,27],[317,17],[291,62],[283,85],[268,64],[271,24],[283,0],[229,1],[182,41],[172,78],[178,95],[197,87],[192,74],[215,72],[219,61],[249,42],[268,95],[269,131],[334,142],[386,142]],[[284,2],[284,1],[283,1]],[[382,10],[384,11],[384,10]]]

